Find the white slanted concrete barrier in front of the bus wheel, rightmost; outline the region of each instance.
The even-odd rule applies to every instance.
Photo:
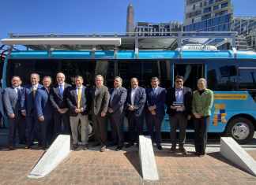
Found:
[[[220,154],[243,170],[256,176],[256,162],[234,139],[220,138]]]

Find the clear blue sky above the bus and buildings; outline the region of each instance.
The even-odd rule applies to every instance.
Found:
[[[183,0],[7,0],[1,2],[0,38],[7,33],[102,33],[126,30],[126,8],[135,21],[183,21]],[[233,0],[235,16],[256,16],[255,0]]]

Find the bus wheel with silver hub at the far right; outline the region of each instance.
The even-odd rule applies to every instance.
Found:
[[[254,124],[244,117],[237,117],[228,124],[227,135],[239,144],[245,144],[254,137]]]

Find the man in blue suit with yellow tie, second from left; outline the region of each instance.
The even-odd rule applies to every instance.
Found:
[[[21,114],[26,119],[26,139],[27,146],[30,148],[33,145],[34,139],[38,140],[38,145],[41,145],[40,140],[40,128],[38,124],[38,119],[36,117],[35,110],[35,98],[36,91],[41,89],[43,85],[40,82],[40,75],[37,73],[32,73],[30,76],[31,84],[25,87],[24,95],[22,96],[22,109]]]

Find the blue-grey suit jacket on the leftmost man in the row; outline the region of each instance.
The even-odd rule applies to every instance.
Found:
[[[3,104],[7,115],[17,114],[21,110],[21,97],[24,94],[24,88],[21,87],[20,92],[16,93],[13,87],[7,87],[3,93]]]

